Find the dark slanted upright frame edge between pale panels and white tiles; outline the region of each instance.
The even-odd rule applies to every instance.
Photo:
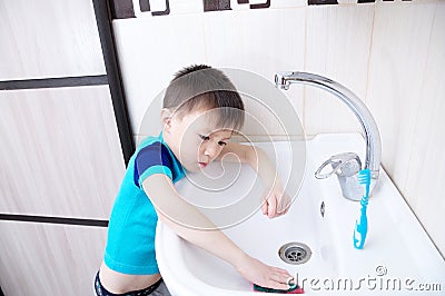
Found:
[[[116,55],[115,38],[111,29],[111,14],[108,0],[92,0],[96,22],[99,30],[100,45],[110,88],[116,124],[118,126],[120,146],[126,166],[135,152],[128,109],[120,79],[120,70]]]

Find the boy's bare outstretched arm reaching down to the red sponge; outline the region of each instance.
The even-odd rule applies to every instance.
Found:
[[[159,219],[178,236],[228,262],[251,283],[276,289],[289,288],[286,283],[291,276],[287,270],[267,266],[244,253],[202,213],[187,203],[166,175],[151,175],[144,180],[142,187]]]

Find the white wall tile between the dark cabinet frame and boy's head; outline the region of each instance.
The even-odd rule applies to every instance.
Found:
[[[115,20],[112,26],[131,127],[138,134],[147,108],[174,73],[206,62],[204,18],[176,14]]]

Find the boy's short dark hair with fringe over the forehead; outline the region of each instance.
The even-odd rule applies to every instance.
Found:
[[[244,124],[244,102],[234,83],[207,65],[179,70],[167,87],[162,108],[179,116],[199,108],[218,109],[218,127],[238,130]]]

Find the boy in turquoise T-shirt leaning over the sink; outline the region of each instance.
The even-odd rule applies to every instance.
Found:
[[[231,264],[249,282],[288,288],[291,276],[286,270],[245,254],[174,186],[186,172],[235,154],[253,166],[268,188],[263,213],[269,218],[286,214],[290,199],[265,154],[228,142],[243,122],[243,100],[221,71],[201,65],[175,76],[164,97],[162,131],[139,145],[116,198],[105,260],[96,276],[98,295],[169,295],[155,257],[158,218],[178,236]]]

